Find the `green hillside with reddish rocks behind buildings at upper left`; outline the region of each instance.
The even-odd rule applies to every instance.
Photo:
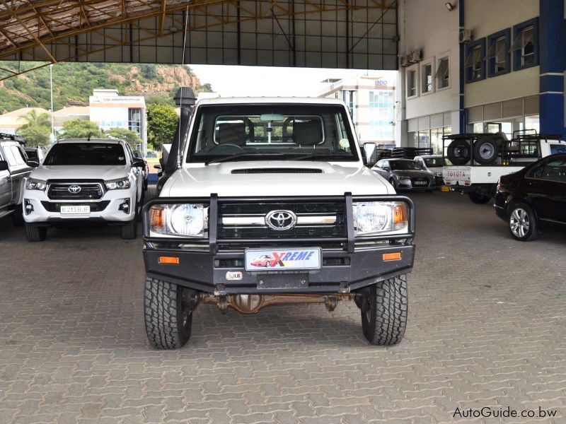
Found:
[[[23,66],[32,67],[33,64]],[[4,69],[17,69],[16,63],[1,62]],[[2,76],[6,75],[3,72]],[[196,93],[212,91],[202,86],[188,67],[153,64],[88,64],[53,65],[54,110],[63,106],[88,105],[94,88],[117,88],[121,95],[144,95],[151,102],[173,104],[173,93],[180,85],[190,86]],[[50,109],[50,70],[45,66],[21,76],[0,81],[0,113],[25,106]]]

